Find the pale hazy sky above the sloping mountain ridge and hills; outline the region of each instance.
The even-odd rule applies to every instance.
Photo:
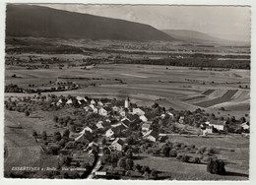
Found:
[[[250,39],[249,7],[82,4],[42,6],[143,23],[159,30],[194,30],[226,39]]]

